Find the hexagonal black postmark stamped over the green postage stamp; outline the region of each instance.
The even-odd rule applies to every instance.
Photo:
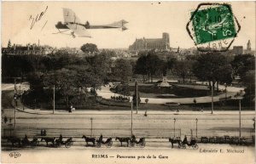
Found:
[[[202,52],[228,50],[241,29],[227,3],[201,3],[190,14],[187,31]]]

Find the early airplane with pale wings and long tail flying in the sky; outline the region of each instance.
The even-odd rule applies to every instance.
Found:
[[[70,8],[63,8],[63,16],[64,16],[64,23],[59,21],[55,27],[59,31],[54,34],[66,34],[71,35],[73,37],[90,37],[90,33],[87,31],[88,29],[113,29],[117,28],[121,31],[127,30],[125,24],[128,23],[125,20],[120,20],[113,22],[112,24],[108,25],[90,25],[89,21],[86,23],[81,23],[79,17],[73,12]],[[71,33],[67,33],[67,31],[71,31]]]

